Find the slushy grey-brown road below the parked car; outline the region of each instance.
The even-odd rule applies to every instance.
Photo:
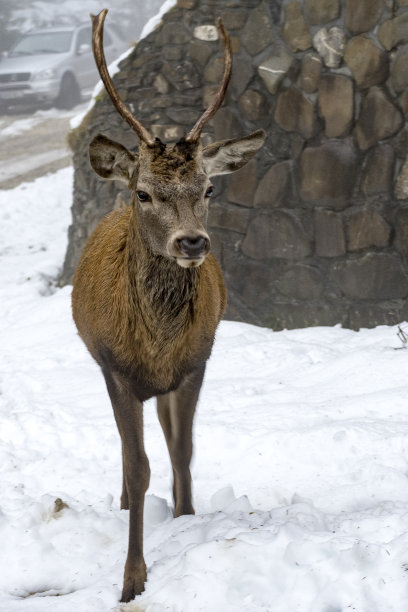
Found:
[[[0,115],[0,189],[12,189],[70,165],[69,122],[86,106]]]

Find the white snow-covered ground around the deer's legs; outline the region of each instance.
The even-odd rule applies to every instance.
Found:
[[[118,604],[119,437],[71,288],[53,287],[71,190],[64,169],[0,191],[0,611],[407,610],[408,351],[397,329],[231,322],[196,419],[196,516],[171,517],[167,451],[145,407],[148,582]]]

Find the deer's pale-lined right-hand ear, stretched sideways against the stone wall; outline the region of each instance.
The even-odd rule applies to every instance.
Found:
[[[207,176],[229,174],[245,166],[265,142],[266,134],[257,130],[244,138],[221,140],[205,147],[203,163]]]

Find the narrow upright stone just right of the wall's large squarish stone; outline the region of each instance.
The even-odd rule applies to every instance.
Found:
[[[391,193],[394,159],[394,148],[390,144],[378,145],[368,152],[361,184],[365,196]]]

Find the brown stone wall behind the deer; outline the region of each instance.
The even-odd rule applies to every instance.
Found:
[[[214,180],[209,219],[228,318],[275,329],[394,324],[408,309],[408,0],[178,0],[122,63],[121,97],[155,136],[175,141],[201,114],[234,50],[226,101],[205,142],[257,128],[255,160]],[[63,282],[120,184],[101,181],[98,132],[135,149],[102,95],[70,136],[73,224]]]

